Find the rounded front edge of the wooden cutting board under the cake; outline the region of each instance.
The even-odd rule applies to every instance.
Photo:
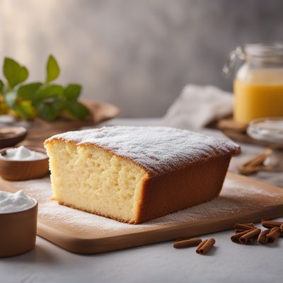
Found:
[[[237,214],[229,219],[218,219],[214,221],[213,229],[209,226],[209,221],[200,221],[197,224],[188,222],[187,224],[178,224],[178,226],[158,227],[158,229],[139,231],[126,235],[90,239],[71,237],[58,229],[39,224],[37,235],[71,253],[92,255],[173,241],[176,238],[201,236],[207,233],[226,231],[233,229],[233,225],[236,221],[256,223],[262,219],[274,219],[280,216],[283,216],[283,204],[272,207],[262,207],[260,212],[243,213]]]

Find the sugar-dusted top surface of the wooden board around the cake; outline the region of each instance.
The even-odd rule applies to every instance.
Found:
[[[60,226],[66,226],[66,228],[73,226],[80,231],[84,231],[86,236],[93,235],[98,230],[125,231],[127,229],[127,231],[137,231],[137,229],[154,228],[185,221],[219,219],[251,211],[259,205],[264,207],[275,204],[277,200],[278,203],[282,203],[282,197],[278,198],[277,192],[270,192],[254,185],[247,186],[245,183],[226,178],[221,195],[210,202],[183,209],[179,212],[147,221],[144,224],[131,225],[64,207],[57,204],[56,201],[50,200],[50,197],[52,197],[50,178],[14,182],[13,185],[23,189],[30,197],[39,200],[38,214],[41,219],[59,223]]]

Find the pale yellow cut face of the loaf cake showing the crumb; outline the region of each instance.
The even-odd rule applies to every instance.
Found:
[[[148,177],[143,168],[96,146],[56,140],[45,147],[59,203],[134,222],[138,195]]]

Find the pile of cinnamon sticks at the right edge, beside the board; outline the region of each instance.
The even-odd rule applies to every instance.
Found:
[[[283,222],[275,220],[262,220],[261,224],[266,230],[261,230],[253,225],[253,223],[236,223],[236,229],[231,241],[233,243],[251,244],[255,241],[261,244],[274,243],[279,236],[283,236]]]

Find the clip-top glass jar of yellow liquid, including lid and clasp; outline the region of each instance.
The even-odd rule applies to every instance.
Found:
[[[283,43],[237,47],[224,74],[229,74],[237,58],[243,64],[233,81],[234,120],[248,124],[261,117],[283,117]]]

